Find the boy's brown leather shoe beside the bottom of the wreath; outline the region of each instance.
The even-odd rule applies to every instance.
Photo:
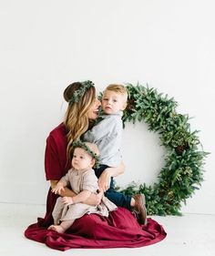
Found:
[[[147,224],[147,209],[146,209],[146,200],[144,194],[138,194],[133,196],[135,200],[135,205],[133,210],[138,213],[138,222],[140,224],[146,225]]]

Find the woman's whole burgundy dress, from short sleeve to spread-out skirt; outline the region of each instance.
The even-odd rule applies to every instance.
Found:
[[[62,178],[70,166],[67,165],[67,137],[64,124],[60,124],[46,140],[45,169],[46,179]],[[163,240],[166,232],[155,220],[148,218],[147,225],[139,225],[134,215],[127,209],[109,213],[108,217],[97,214],[84,215],[75,220],[66,233],[47,230],[53,224],[52,210],[56,196],[48,190],[46,215],[30,225],[25,236],[28,239],[45,243],[48,247],[66,251],[71,248],[117,248],[141,247]]]

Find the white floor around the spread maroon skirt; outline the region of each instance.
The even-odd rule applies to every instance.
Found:
[[[214,256],[215,215],[184,214],[182,217],[153,216],[168,233],[164,241],[137,249],[72,249],[55,251],[27,240],[24,230],[43,217],[45,206],[0,203],[0,255],[2,256]]]

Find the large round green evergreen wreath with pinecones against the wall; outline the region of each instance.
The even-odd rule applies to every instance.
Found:
[[[132,182],[125,194],[143,193],[147,200],[148,215],[181,215],[181,202],[200,189],[203,180],[204,158],[207,152],[199,150],[198,131],[190,132],[189,116],[176,112],[178,103],[159,94],[148,85],[128,84],[128,107],[123,122],[146,122],[148,130],[158,132],[161,145],[166,149],[165,164],[153,186]]]

